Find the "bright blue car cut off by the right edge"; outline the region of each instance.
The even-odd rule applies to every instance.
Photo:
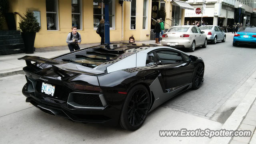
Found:
[[[256,46],[256,27],[242,27],[233,38],[233,46],[248,44]]]

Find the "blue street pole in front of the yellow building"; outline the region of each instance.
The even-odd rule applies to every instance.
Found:
[[[105,0],[105,44],[110,44],[110,38],[109,38],[109,13],[108,13],[108,0]]]

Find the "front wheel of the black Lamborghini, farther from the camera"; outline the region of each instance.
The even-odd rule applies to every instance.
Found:
[[[202,63],[199,63],[196,66],[196,69],[193,75],[192,88],[194,90],[200,88],[203,81],[204,81],[204,66]]]

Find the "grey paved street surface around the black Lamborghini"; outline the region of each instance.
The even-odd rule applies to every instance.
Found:
[[[159,130],[197,128],[220,129],[227,107],[228,113],[236,107],[226,104],[256,69],[255,48],[233,47],[232,36],[227,41],[207,48],[188,52],[204,59],[204,83],[198,90],[189,90],[172,98],[149,114],[142,128],[128,132],[116,127],[99,124],[71,122],[65,118],[45,114],[24,102],[21,93],[24,75],[0,78],[0,138],[8,143],[172,143],[204,144],[206,137],[159,137]],[[246,85],[244,91],[250,88]],[[236,99],[237,102],[241,98]]]

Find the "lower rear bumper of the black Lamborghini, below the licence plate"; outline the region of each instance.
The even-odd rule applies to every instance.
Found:
[[[61,116],[77,122],[106,123],[118,125],[120,110],[106,106],[102,110],[74,108],[66,102],[58,102],[50,98],[44,100],[35,96],[34,92],[28,91],[25,85],[22,93],[26,96],[26,102],[30,102],[40,110],[54,116]]]

